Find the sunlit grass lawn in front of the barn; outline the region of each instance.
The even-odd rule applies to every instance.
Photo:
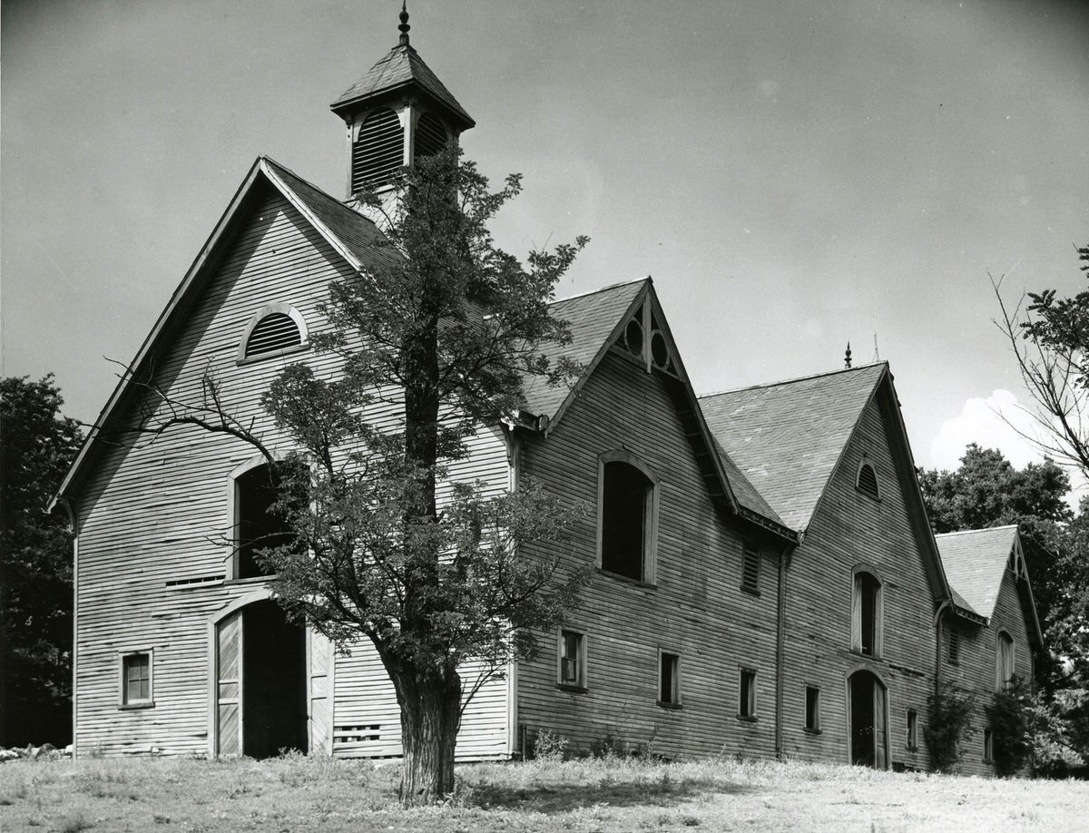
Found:
[[[397,768],[267,761],[20,760],[0,765],[13,831],[1085,830],[1089,783],[894,774],[835,764],[585,760],[458,768],[442,806],[402,810]]]

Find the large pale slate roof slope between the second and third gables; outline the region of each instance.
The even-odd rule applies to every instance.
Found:
[[[701,396],[711,433],[792,529],[805,529],[888,365]]]

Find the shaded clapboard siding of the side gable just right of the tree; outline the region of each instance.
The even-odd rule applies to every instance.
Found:
[[[625,449],[659,478],[657,586],[596,573],[567,623],[587,639],[587,691],[556,688],[558,634],[518,667],[518,723],[586,750],[613,742],[663,755],[774,754],[774,559],[760,597],[741,587],[743,539],[717,516],[665,377],[608,354],[547,438],[525,441],[523,470],[588,518],[563,548],[566,568],[595,564],[598,458]],[[678,710],[658,698],[659,650],[681,656]],[[739,666],[758,671],[755,723],[737,720]]]

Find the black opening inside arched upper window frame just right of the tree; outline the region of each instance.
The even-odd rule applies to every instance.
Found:
[[[605,463],[601,507],[601,568],[643,579],[653,483],[635,466]]]

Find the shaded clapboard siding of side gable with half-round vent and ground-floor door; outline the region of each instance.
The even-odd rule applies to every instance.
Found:
[[[848,760],[847,677],[867,669],[888,690],[891,764],[926,768],[922,726],[933,687],[935,604],[923,554],[894,469],[890,429],[876,401],[829,483],[787,571],[783,685],[784,755]],[[862,454],[877,471],[880,501],[855,488]],[[883,650],[851,650],[852,569],[874,567],[884,584]],[[820,734],[805,731],[806,687],[820,688]],[[919,714],[919,748],[908,749],[907,712]]]

